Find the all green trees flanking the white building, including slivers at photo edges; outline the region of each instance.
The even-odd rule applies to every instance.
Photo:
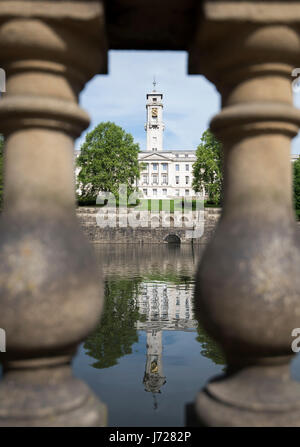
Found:
[[[120,185],[127,186],[128,196],[136,190],[143,165],[138,160],[139,144],[120,126],[112,122],[98,124],[89,132],[76,159],[77,201],[80,205],[96,203],[99,191],[118,198]],[[4,138],[0,134],[0,206],[3,200]],[[300,157],[293,163],[293,196],[300,219]],[[222,206],[222,145],[206,130],[196,150],[192,187],[206,194],[206,204]]]

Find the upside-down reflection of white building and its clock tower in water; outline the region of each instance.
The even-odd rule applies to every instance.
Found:
[[[147,332],[147,358],[143,383],[152,392],[154,408],[156,394],[166,383],[162,367],[162,331],[195,331],[197,321],[193,312],[193,286],[165,282],[144,282],[137,296],[137,306],[144,321],[137,329]]]

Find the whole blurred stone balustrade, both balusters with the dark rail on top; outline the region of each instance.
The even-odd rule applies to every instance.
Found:
[[[73,140],[89,123],[78,94],[106,72],[107,49],[189,51],[190,74],[205,75],[222,95],[211,129],[224,147],[224,206],[195,301],[228,367],[197,396],[198,423],[300,425],[300,385],[289,376],[300,318],[290,167],[300,125],[291,90],[300,6],[166,0],[155,10],[132,0],[0,2],[1,426],[106,424],[103,404],[72,377],[70,362],[102,307],[75,215]]]

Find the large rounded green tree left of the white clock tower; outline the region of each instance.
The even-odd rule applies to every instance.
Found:
[[[95,201],[99,191],[118,197],[119,185],[127,185],[128,195],[140,176],[139,145],[131,134],[114,123],[100,123],[86,136],[77,158],[80,199]]]

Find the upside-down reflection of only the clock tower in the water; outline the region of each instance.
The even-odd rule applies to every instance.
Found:
[[[162,331],[153,329],[147,332],[147,360],[143,384],[145,391],[153,394],[154,408],[157,408],[155,395],[160,393],[166,383],[162,369]]]

